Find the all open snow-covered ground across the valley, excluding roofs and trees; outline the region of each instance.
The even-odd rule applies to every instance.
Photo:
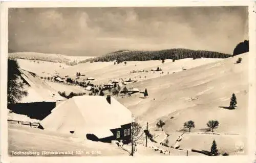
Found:
[[[241,57],[240,64],[234,64]],[[18,60],[20,66],[27,66],[31,71],[45,71],[49,74],[58,72],[60,76],[69,75],[75,78],[76,72],[86,74],[84,78],[93,77],[92,83],[102,84],[113,79],[133,79],[136,83],[127,84],[127,87],[136,87],[140,91],[147,88],[148,97],[143,94],[133,94],[131,97],[116,96],[121,104],[126,106],[139,118],[143,129],[146,122],[149,123],[150,132],[158,143],[154,146],[172,151],[172,155],[186,155],[185,151],[161,146],[159,141],[165,136],[170,144],[176,141],[177,136],[183,133],[183,124],[192,120],[195,128],[191,133],[185,133],[180,142],[181,149],[196,149],[209,151],[212,141],[215,139],[220,152],[236,155],[236,143],[246,144],[247,132],[247,99],[248,99],[248,54],[242,54],[227,59],[191,58],[161,61],[133,61],[114,65],[113,62],[82,63],[75,66],[59,68],[59,63],[49,65],[40,69],[36,63],[28,60]],[[30,65],[31,64],[31,65]],[[50,64],[50,63],[41,63]],[[160,72],[130,73],[133,70],[144,69],[150,71],[157,66],[163,69]],[[186,68],[185,71],[182,68]],[[174,73],[175,72],[175,73]],[[146,76],[146,77],[145,77]],[[83,78],[81,77],[80,80]],[[78,86],[65,85],[48,82],[55,90],[60,91],[83,91]],[[226,109],[232,93],[236,94],[238,107],[234,110]],[[163,120],[164,131],[156,128],[158,120]],[[220,125],[213,134],[205,134],[206,123],[209,120],[218,120]],[[54,123],[54,122],[53,122]],[[210,132],[211,133],[211,132]],[[230,134],[230,135],[228,135]],[[27,139],[28,135],[30,139]],[[33,135],[33,136],[31,136]],[[54,136],[53,136],[54,135]],[[41,143],[44,142],[44,143]],[[84,141],[82,141],[84,142]],[[97,150],[102,155],[129,155],[129,152],[120,149],[115,144],[104,144],[85,141],[76,142],[73,138],[59,135],[58,133],[46,133],[38,129],[21,127],[19,125],[9,126],[9,152],[12,150]],[[152,145],[153,146],[153,145]],[[126,147],[129,148],[129,147]],[[245,153],[246,154],[246,146]],[[138,146],[137,155],[163,155],[144,144]],[[189,152],[189,155],[203,155]]]

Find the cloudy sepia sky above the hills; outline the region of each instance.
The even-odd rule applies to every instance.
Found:
[[[247,7],[16,8],[10,52],[98,56],[120,49],[231,54],[248,39]]]

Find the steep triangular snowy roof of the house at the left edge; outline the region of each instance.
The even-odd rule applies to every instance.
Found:
[[[20,68],[19,71],[22,79],[29,84],[24,86],[25,90],[28,91],[28,96],[23,97],[20,103],[56,102],[65,100],[65,98],[61,97],[56,90],[34,73]]]

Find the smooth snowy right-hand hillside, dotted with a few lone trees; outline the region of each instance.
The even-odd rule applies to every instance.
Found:
[[[239,57],[242,62],[234,64]],[[247,53],[127,86],[142,91],[147,88],[147,98],[143,94],[117,98],[139,118],[142,125],[149,123],[152,134],[159,132],[156,123],[161,119],[165,122],[162,134],[169,133],[169,142],[175,142],[177,133],[181,135],[184,132],[184,122],[192,120],[195,128],[184,135],[180,145],[183,149],[209,150],[216,139],[222,152],[237,155],[236,143],[246,144]],[[230,110],[228,107],[233,93],[238,107]],[[209,120],[219,121],[220,125],[214,132],[217,135],[206,130]]]

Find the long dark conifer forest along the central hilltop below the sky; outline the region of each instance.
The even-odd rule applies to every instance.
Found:
[[[169,49],[160,51],[117,51],[109,53],[104,56],[90,58],[80,61],[84,62],[109,62],[116,61],[117,63],[124,61],[147,61],[147,60],[164,60],[164,59],[184,59],[184,58],[228,58],[229,54],[212,52],[212,51],[200,51],[189,49]]]

